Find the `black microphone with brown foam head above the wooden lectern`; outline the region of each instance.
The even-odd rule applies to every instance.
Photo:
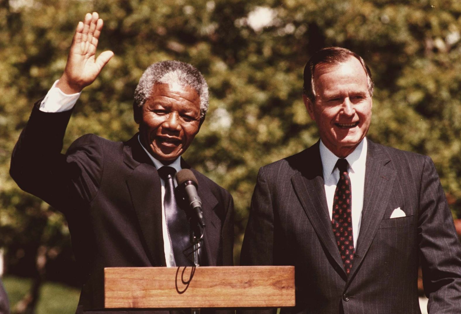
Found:
[[[197,179],[194,173],[189,169],[182,169],[176,174],[177,185],[184,189],[187,195],[189,207],[195,213],[195,218],[199,225],[205,227],[203,213],[201,211],[201,200],[197,194]]]

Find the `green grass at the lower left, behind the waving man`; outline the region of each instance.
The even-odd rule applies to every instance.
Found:
[[[10,307],[14,309],[30,289],[29,278],[5,276],[3,279]],[[74,314],[77,308],[80,290],[62,284],[46,282],[42,285],[36,314]]]

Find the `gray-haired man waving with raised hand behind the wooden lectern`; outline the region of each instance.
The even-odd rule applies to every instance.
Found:
[[[61,154],[80,92],[113,56],[106,51],[95,58],[102,26],[96,12],[78,23],[65,71],[35,103],[10,169],[22,189],[62,211],[69,223],[83,274],[77,313],[98,313],[103,307],[104,267],[192,265],[189,244],[184,243],[189,214],[177,201],[174,176],[190,168],[180,156],[199,132],[208,108],[207,83],[197,69],[179,61],[158,62],[136,87],[138,134],[125,142],[87,134]],[[200,264],[231,265],[232,197],[191,170],[206,221]]]

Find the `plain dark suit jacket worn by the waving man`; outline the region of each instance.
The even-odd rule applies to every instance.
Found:
[[[84,281],[77,312],[102,308],[104,267],[165,266],[160,177],[137,134],[127,142],[87,134],[60,154],[71,112],[45,113],[39,103],[13,151],[10,173],[68,221]],[[183,161],[182,167],[189,168]],[[191,170],[207,223],[201,265],[232,265],[232,197]]]

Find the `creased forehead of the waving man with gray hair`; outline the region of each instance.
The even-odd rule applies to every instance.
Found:
[[[200,96],[190,85],[155,83],[146,103],[181,103],[200,108]]]

